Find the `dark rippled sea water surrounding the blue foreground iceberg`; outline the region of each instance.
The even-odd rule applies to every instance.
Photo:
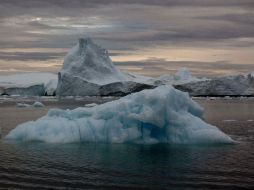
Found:
[[[197,101],[206,109],[204,119],[239,143],[170,146],[2,140],[0,189],[254,189],[254,100]],[[20,122],[66,105],[44,103],[42,109],[2,103],[3,136]]]

